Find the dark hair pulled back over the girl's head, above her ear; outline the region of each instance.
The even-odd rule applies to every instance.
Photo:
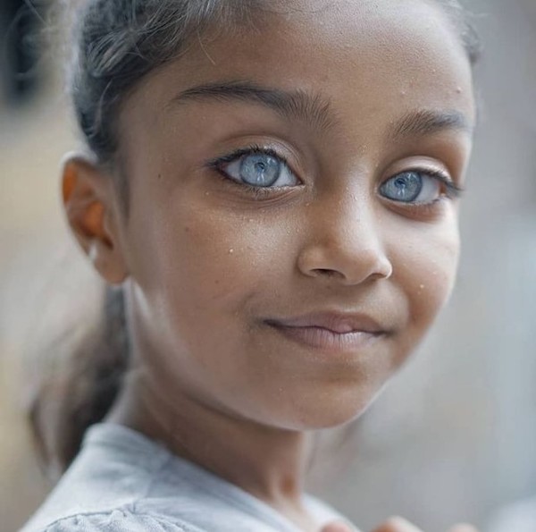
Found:
[[[78,17],[71,97],[101,161],[117,149],[118,107],[139,80],[183,53],[208,29],[246,24],[252,0],[90,0]],[[260,6],[257,6],[260,7]]]

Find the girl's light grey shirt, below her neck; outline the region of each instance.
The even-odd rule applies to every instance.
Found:
[[[326,524],[339,512],[306,494]],[[268,504],[125,426],[88,429],[79,456],[21,532],[299,532]],[[358,531],[356,531],[358,532]]]

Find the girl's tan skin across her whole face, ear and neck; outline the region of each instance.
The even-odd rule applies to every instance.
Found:
[[[452,289],[458,201],[440,179],[463,183],[474,103],[434,4],[291,7],[259,15],[262,31],[205,36],[142,80],[121,108],[121,164],[71,156],[63,196],[128,301],[132,367],[108,420],[318,531],[302,503],[311,432],[373,401]],[[212,96],[191,90],[211,84]],[[238,84],[247,97],[229,96]],[[287,107],[267,103],[273,90]],[[244,186],[273,165],[276,182]],[[393,198],[408,172],[423,192]],[[312,313],[322,326],[299,322]]]

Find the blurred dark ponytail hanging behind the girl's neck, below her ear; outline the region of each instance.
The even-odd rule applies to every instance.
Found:
[[[105,291],[100,323],[84,331],[69,364],[52,364],[41,376],[30,408],[38,452],[53,477],[61,474],[80,450],[88,426],[102,420],[121,388],[128,367],[129,343],[121,289]],[[70,346],[69,338],[51,346],[55,354]]]

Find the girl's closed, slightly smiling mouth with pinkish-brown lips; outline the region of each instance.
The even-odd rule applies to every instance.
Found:
[[[364,350],[388,334],[364,314],[315,313],[265,323],[293,342],[332,353]]]

